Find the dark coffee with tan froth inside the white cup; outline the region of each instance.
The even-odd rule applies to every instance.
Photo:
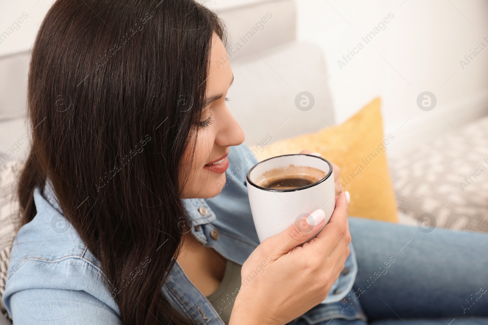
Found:
[[[268,189],[289,190],[313,184],[325,176],[324,171],[314,167],[289,165],[264,172],[256,184]]]

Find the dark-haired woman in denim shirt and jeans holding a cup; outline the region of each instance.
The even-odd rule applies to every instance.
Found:
[[[14,324],[486,324],[486,234],[348,220],[338,190],[316,239],[259,243],[224,42],[193,0],[55,2],[30,65]]]

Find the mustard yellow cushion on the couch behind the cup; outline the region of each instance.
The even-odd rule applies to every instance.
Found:
[[[381,99],[375,98],[341,125],[270,143],[256,157],[261,161],[305,149],[322,153],[341,169],[340,183],[351,194],[349,215],[398,222],[386,162],[386,151],[394,136],[383,135],[380,108]]]

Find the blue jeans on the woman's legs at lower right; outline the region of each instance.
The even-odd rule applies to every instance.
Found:
[[[488,324],[487,233],[425,233],[356,217],[349,217],[349,230],[358,273],[342,303],[360,305],[367,320],[335,318],[317,325]]]

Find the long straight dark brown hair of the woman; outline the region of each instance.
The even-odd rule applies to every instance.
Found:
[[[194,0],[58,0],[34,43],[21,224],[49,179],[123,324],[190,324],[161,287],[181,247],[182,156],[195,148],[214,32],[225,44]]]

